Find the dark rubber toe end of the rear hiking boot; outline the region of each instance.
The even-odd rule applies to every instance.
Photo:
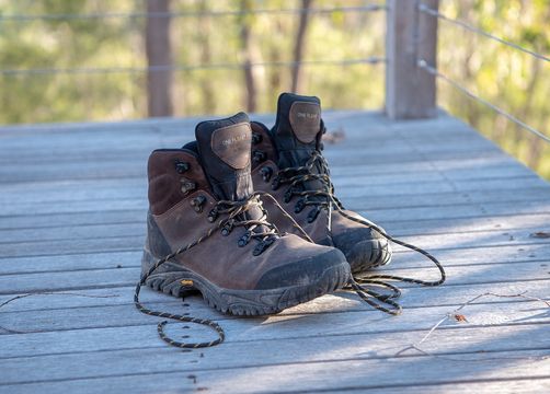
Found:
[[[391,260],[391,246],[383,237],[358,242],[347,253],[342,252],[354,275],[367,274],[369,269],[387,265]]]

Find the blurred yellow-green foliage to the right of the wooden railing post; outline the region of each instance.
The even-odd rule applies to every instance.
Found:
[[[522,47],[550,54],[548,0],[442,1],[442,12]],[[550,68],[543,60],[445,21],[439,24],[439,68],[481,97],[547,135]],[[457,67],[461,65],[461,67]],[[493,109],[439,84],[439,103],[550,179],[550,144]]]

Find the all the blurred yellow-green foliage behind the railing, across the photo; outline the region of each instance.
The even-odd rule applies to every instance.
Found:
[[[145,0],[146,1],[146,0]],[[411,0],[412,1],[412,0]],[[371,1],[314,0],[314,8],[356,7]],[[237,10],[239,1],[172,0],[172,11]],[[299,8],[297,0],[257,0],[256,9]],[[550,54],[548,0],[440,0],[443,13],[468,21],[526,48]],[[144,12],[144,0],[0,0],[0,14],[105,14]],[[175,65],[240,63],[239,26],[250,25],[254,62],[289,61],[297,14],[181,16],[172,19]],[[383,56],[383,12],[312,14],[306,60]],[[0,19],[0,69],[75,69],[146,66],[144,18],[14,21]],[[438,68],[469,90],[543,132],[550,117],[548,62],[442,21]],[[325,108],[381,108],[383,65],[306,66],[303,93]],[[290,86],[290,69],[254,68],[259,112],[273,112]],[[550,179],[550,144],[439,81],[439,104],[466,119],[511,154]],[[130,119],[147,116],[141,71],[0,76],[0,124]],[[220,115],[245,104],[242,70],[174,72],[176,116]]]

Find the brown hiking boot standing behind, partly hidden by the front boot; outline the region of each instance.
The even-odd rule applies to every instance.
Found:
[[[352,274],[388,264],[388,241],[359,215],[345,210],[334,196],[321,154],[325,129],[318,97],[283,93],[272,130],[253,121],[252,179],[256,190],[271,193],[317,243],[334,245],[346,256]],[[282,231],[297,233],[266,201],[270,219]],[[342,209],[336,212],[335,208]],[[329,213],[330,212],[330,213]]]

